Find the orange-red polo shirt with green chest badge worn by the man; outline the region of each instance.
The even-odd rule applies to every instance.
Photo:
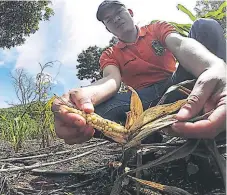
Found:
[[[119,41],[102,53],[101,69],[117,66],[122,81],[134,89],[167,79],[176,69],[176,60],[165,47],[165,38],[172,32],[176,32],[175,28],[166,22],[141,27],[135,43]]]

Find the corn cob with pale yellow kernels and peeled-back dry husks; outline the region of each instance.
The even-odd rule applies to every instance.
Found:
[[[126,147],[136,146],[152,132],[176,122],[177,120],[173,113],[178,111],[187,101],[183,99],[171,104],[158,105],[143,111],[142,102],[137,92],[131,87],[129,87],[129,90],[132,91],[131,104],[130,111],[127,113],[125,126],[104,119],[96,113],[87,114],[84,111],[78,110],[70,103],[65,102],[60,97],[55,97],[62,102],[62,107],[65,110],[81,115],[85,118],[87,124]],[[148,131],[148,129],[152,129],[152,131]]]

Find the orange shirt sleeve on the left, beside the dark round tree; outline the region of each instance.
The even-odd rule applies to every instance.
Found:
[[[107,65],[114,65],[119,67],[119,63],[117,62],[114,56],[114,51],[112,47],[102,52],[102,55],[100,56],[100,59],[99,59],[99,64],[100,64],[101,70],[103,70]]]

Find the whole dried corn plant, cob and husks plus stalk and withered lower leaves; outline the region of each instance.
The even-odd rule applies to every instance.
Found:
[[[127,120],[126,120],[125,126],[122,126],[116,122],[104,119],[95,113],[87,114],[81,110],[76,109],[76,107],[74,107],[73,105],[67,102],[64,102],[58,96],[55,96],[55,98],[58,98],[59,100],[61,100],[64,108],[67,109],[68,112],[76,113],[83,116],[86,119],[87,124],[101,131],[105,136],[110,137],[114,141],[122,144],[125,152],[131,149],[136,149],[136,150],[141,149],[140,144],[143,139],[145,139],[147,136],[150,136],[155,131],[159,131],[177,122],[175,118],[175,113],[187,102],[187,99],[178,100],[171,104],[162,104],[162,103],[165,101],[166,97],[170,93],[176,90],[186,95],[189,95],[191,91],[184,86],[186,84],[194,84],[194,82],[195,82],[194,80],[186,81],[186,82],[182,82],[180,84],[171,86],[163,95],[163,97],[161,98],[157,106],[149,108],[145,111],[143,110],[142,102],[137,92],[131,87],[128,87],[128,89],[132,92],[132,95],[131,95],[130,111],[127,113]],[[212,111],[202,116],[197,116],[196,118],[191,119],[190,121],[194,122],[197,120],[207,118],[211,113]],[[136,169],[123,173],[115,181],[111,191],[111,195],[120,194],[120,191],[122,188],[122,182],[125,178],[128,178],[130,174],[138,173],[143,169],[157,166],[162,163],[167,163],[179,158],[184,158],[189,154],[192,154],[200,142],[201,140],[189,139],[181,147],[178,147],[172,150],[171,152],[161,156],[159,159],[156,159],[151,163],[148,163],[145,165],[139,164],[139,166]],[[207,146],[208,150],[211,152],[212,156],[215,158],[217,165],[222,173],[223,179],[225,180],[225,169],[226,169],[225,160],[218,153],[215,145],[215,141],[204,140],[204,143]],[[125,158],[127,158],[127,155],[125,155]],[[125,159],[123,159],[123,161],[124,160]],[[127,160],[128,159],[126,159],[126,162]],[[122,164],[126,165],[127,163],[122,163]],[[139,175],[139,174],[136,174],[136,175]],[[130,176],[130,179],[143,185],[146,184],[152,188],[156,188],[157,190],[160,190],[163,192],[168,192],[169,190],[172,194],[189,195],[188,192],[176,187],[171,187],[171,186],[169,187],[161,184],[153,185],[152,182],[144,181],[144,180],[141,180],[140,178],[135,178],[132,176]],[[139,190],[137,190],[137,192],[139,192]]]

